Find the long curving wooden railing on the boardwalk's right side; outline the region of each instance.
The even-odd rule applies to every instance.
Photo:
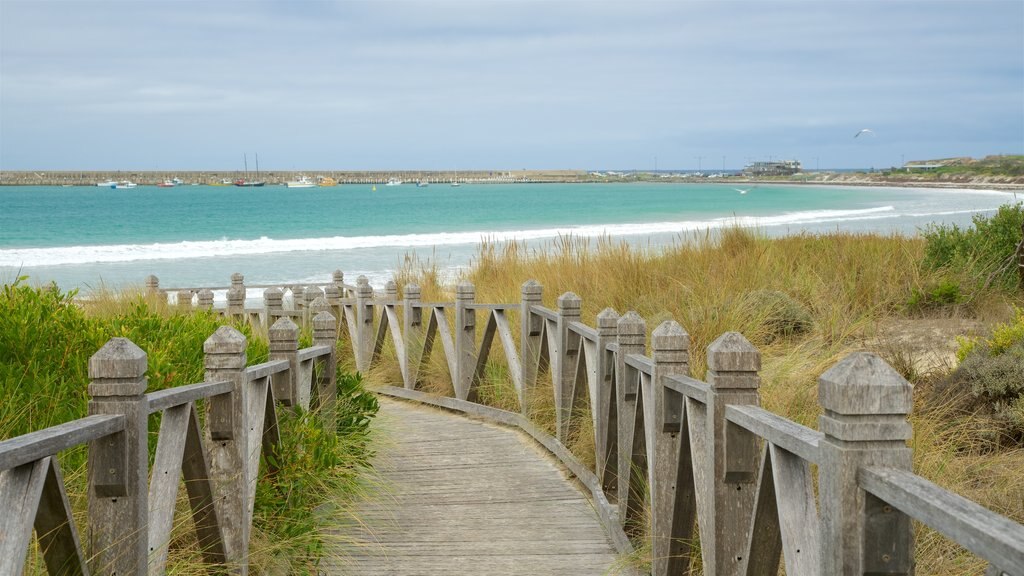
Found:
[[[646,522],[634,538],[649,538],[653,574],[684,573],[697,553],[709,575],[774,575],[782,562],[793,575],[911,574],[914,519],[987,560],[989,574],[1024,575],[1024,526],[911,472],[912,388],[876,355],[853,354],[820,376],[814,430],[759,407],[761,354],[735,332],[708,346],[698,380],[676,322],[651,332],[646,356],[636,313],[606,308],[591,327],[579,296],[562,294],[550,310],[535,282],[518,303],[478,303],[465,282],[455,301],[423,302],[416,285],[399,299],[393,282],[377,295],[361,277],[321,294],[304,305],[343,318],[357,369],[397,363],[402,386],[382,393],[529,433],[591,490],[621,550],[633,545],[624,527]],[[268,298],[265,308],[276,305]],[[393,358],[383,354],[388,334]],[[522,414],[475,403],[496,337]],[[437,340],[455,398],[416,389]],[[553,397],[554,437],[524,416],[537,386]],[[584,406],[593,469],[562,444]]]

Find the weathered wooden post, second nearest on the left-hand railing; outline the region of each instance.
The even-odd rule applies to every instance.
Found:
[[[207,446],[217,518],[224,534],[224,556],[233,574],[248,574],[249,531],[249,382],[246,378],[246,337],[221,326],[205,342],[206,381],[228,380],[231,392],[207,402]]]

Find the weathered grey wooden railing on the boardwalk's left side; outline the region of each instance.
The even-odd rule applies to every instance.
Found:
[[[333,429],[337,321],[322,312],[311,323],[314,345],[299,349],[298,326],[274,322],[270,360],[255,366],[246,365],[246,337],[222,326],[204,343],[204,382],[148,394],[146,354],[111,339],[89,360],[88,416],[0,442],[0,575],[22,574],[33,530],[49,574],[163,574],[182,478],[210,571],[248,573],[260,456],[281,447],[278,407],[318,405]],[[151,468],[147,426],[157,413]],[[83,444],[85,545],[56,458]]]

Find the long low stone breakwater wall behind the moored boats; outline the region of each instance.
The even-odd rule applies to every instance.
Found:
[[[385,183],[391,178],[406,182],[431,183],[459,182],[572,182],[587,176],[581,170],[268,170],[260,171],[260,180],[269,186],[284,184],[300,176],[313,180],[334,178],[338,183]],[[165,180],[179,178],[186,184],[217,184],[223,180],[246,177],[241,170],[205,171],[146,171],[146,170],[96,170],[96,171],[0,171],[0,186],[94,186],[106,180],[130,180],[140,186],[156,186]],[[249,179],[256,179],[250,171]]]

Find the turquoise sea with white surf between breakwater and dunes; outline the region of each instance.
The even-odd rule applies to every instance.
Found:
[[[340,269],[382,286],[407,254],[442,270],[483,239],[543,245],[611,236],[662,246],[738,223],[766,234],[969,223],[1015,196],[993,191],[627,183],[417,188],[184,186],[0,188],[0,281],[27,275],[88,291],[140,286],[326,282]],[[1024,198],[1024,197],[1022,197]]]

